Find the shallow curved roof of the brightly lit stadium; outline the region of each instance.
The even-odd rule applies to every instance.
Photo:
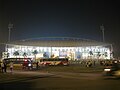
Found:
[[[41,47],[79,47],[79,46],[110,45],[108,43],[98,42],[95,40],[72,37],[41,37],[14,41],[9,44]]]

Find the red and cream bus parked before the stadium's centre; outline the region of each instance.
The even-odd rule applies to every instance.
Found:
[[[40,65],[43,66],[56,66],[56,65],[69,65],[68,58],[46,58],[46,59],[40,59]]]

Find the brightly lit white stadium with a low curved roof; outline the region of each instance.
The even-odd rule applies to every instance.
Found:
[[[6,44],[7,58],[111,59],[112,45],[73,37],[41,37]]]

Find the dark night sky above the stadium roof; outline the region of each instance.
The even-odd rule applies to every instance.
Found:
[[[118,0],[0,0],[0,42],[38,37],[79,37],[120,45]]]

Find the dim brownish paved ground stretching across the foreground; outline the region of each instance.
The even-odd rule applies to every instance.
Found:
[[[8,71],[10,74],[10,71]],[[119,90],[120,80],[104,79],[101,73],[14,71],[27,75],[19,81],[0,83],[0,90]]]

